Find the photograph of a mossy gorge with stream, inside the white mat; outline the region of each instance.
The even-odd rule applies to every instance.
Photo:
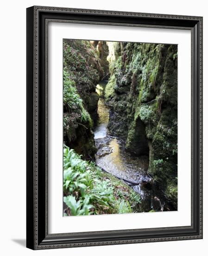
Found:
[[[63,39],[63,216],[177,211],[177,52]]]

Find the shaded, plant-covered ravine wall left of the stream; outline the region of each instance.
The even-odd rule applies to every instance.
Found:
[[[85,159],[93,159],[96,153],[92,127],[99,95],[95,88],[103,76],[90,41],[63,41],[63,140]]]

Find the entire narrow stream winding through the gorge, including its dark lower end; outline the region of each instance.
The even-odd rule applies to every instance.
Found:
[[[108,133],[110,109],[104,99],[107,82],[107,80],[103,80],[96,87],[96,92],[100,95],[97,110],[98,122],[94,131],[97,148],[96,164],[106,172],[125,180],[125,182],[130,181],[138,184],[126,182],[141,196],[142,211],[170,210],[171,207],[168,202],[165,202],[162,193],[152,186],[151,177],[147,174],[149,157],[145,155],[132,156],[125,150],[125,141]]]

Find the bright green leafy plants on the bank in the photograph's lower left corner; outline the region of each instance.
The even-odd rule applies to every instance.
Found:
[[[73,149],[63,151],[63,201],[65,215],[131,213],[140,196],[125,183],[104,173],[94,162],[81,159]]]

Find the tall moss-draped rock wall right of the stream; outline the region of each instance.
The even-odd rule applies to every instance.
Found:
[[[149,174],[177,208],[177,46],[108,42],[109,130],[133,155],[149,154]]]

